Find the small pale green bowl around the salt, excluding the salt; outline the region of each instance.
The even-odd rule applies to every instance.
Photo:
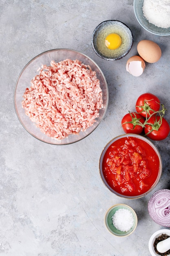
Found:
[[[126,210],[129,210],[130,213],[132,213],[132,216],[134,218],[134,223],[128,231],[120,231],[113,225],[112,216],[119,209],[126,209]],[[113,236],[125,237],[125,236],[129,236],[130,234],[132,234],[135,231],[135,229],[137,227],[137,215],[136,215],[135,211],[130,206],[128,206],[126,204],[115,204],[106,211],[104,223],[105,223],[106,229]]]

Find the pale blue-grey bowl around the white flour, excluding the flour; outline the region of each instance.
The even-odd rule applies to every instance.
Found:
[[[146,29],[148,32],[158,35],[158,36],[169,36],[170,35],[170,27],[167,29],[157,27],[157,26],[153,25],[152,23],[150,23],[144,17],[144,13],[142,10],[143,4],[144,4],[144,0],[134,0],[134,3],[133,3],[135,16],[137,18],[137,21],[141,25],[141,27]]]

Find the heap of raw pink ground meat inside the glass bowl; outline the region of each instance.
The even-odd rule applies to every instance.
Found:
[[[23,97],[26,115],[41,132],[58,140],[92,126],[103,108],[96,73],[78,60],[42,65]]]

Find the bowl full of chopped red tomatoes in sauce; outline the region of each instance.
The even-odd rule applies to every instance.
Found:
[[[99,173],[106,187],[115,195],[141,198],[160,180],[161,155],[144,136],[120,135],[104,147],[99,159]]]

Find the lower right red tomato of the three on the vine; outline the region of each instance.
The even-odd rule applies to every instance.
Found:
[[[148,135],[146,135],[150,139],[162,140],[168,136],[170,132],[170,126],[165,118],[162,117],[162,124],[160,124],[160,116],[153,116],[148,119],[148,123],[154,124],[153,128],[155,128],[155,130],[152,130],[152,126],[150,126],[149,124],[146,124],[144,128],[145,134],[152,130]]]

